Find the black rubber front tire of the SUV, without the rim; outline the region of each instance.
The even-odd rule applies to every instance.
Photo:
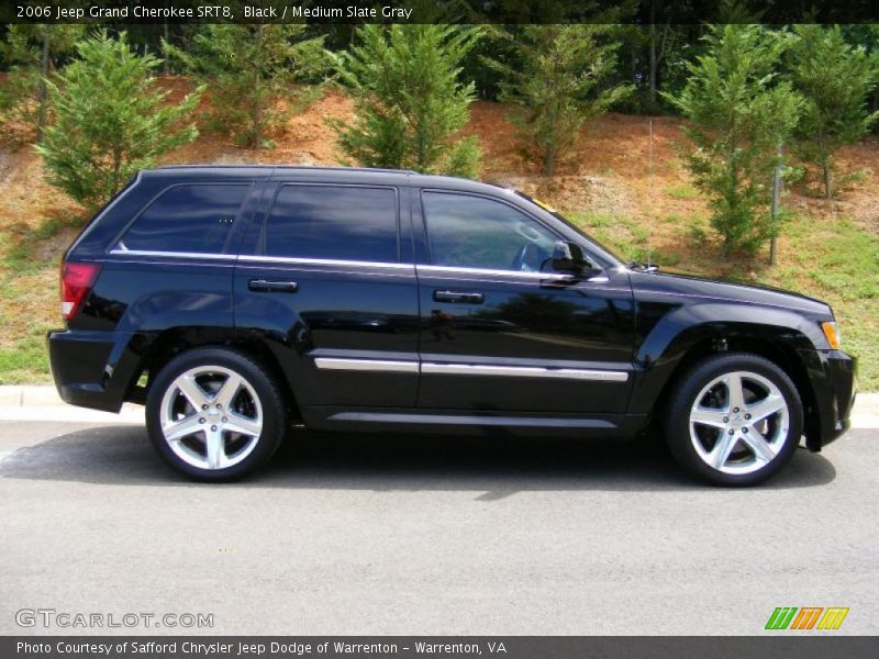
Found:
[[[706,465],[690,438],[690,411],[696,396],[715,378],[732,371],[749,371],[763,376],[778,387],[788,405],[788,436],[776,457],[750,473],[724,473]],[[709,358],[690,369],[672,395],[665,423],[666,440],[678,461],[696,476],[717,485],[745,487],[775,476],[793,456],[803,433],[803,407],[797,387],[774,362],[749,354],[730,354]]]

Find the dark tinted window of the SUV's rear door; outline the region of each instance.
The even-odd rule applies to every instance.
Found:
[[[266,254],[397,263],[397,194],[386,188],[283,186]]]

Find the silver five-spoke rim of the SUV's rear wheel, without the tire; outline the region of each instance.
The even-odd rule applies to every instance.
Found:
[[[199,366],[178,376],[160,410],[165,442],[199,469],[237,465],[263,433],[263,406],[253,386],[222,366]]]

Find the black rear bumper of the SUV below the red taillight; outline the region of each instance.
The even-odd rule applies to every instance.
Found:
[[[80,407],[119,412],[133,375],[131,368],[124,368],[127,339],[105,332],[49,332],[46,347],[62,400]]]

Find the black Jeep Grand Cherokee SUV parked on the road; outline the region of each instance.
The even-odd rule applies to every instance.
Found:
[[[146,404],[203,480],[292,422],[632,438],[714,483],[771,476],[848,426],[827,304],[621,263],[514,190],[396,170],[143,171],[65,255],[68,403]]]

